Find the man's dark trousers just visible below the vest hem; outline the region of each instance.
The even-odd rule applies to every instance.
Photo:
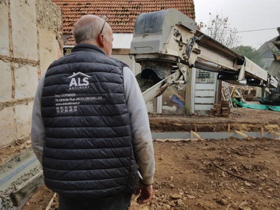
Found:
[[[128,210],[132,194],[98,199],[72,199],[59,195],[58,210]]]

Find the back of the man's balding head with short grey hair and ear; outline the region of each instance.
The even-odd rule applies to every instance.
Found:
[[[96,15],[87,14],[82,16],[75,24],[73,29],[73,35],[76,44],[83,41],[96,41],[100,32],[102,25],[104,24],[103,19]],[[108,23],[105,23],[102,33],[107,39]]]

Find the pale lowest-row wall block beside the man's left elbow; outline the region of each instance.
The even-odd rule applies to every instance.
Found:
[[[15,105],[16,138],[26,136],[31,131],[33,101],[28,104]]]

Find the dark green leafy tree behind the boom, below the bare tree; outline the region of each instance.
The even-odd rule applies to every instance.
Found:
[[[232,50],[240,55],[244,55],[245,57],[249,58],[257,65],[264,68],[265,65],[264,65],[264,62],[262,61],[262,55],[260,52],[257,51],[256,48],[254,48],[252,46],[240,45],[240,46],[232,48]]]

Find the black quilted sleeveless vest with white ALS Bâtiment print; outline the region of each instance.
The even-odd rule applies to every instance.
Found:
[[[133,193],[139,176],[123,64],[78,44],[48,68],[41,98],[45,185],[73,198]]]

